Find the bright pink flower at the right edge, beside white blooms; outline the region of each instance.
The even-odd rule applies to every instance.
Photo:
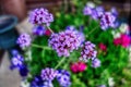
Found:
[[[122,34],[120,38],[121,38],[121,46],[127,48],[131,42],[131,38],[126,34]]]

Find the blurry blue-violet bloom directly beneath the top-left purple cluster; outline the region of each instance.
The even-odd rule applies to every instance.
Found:
[[[37,36],[43,36],[45,35],[46,28],[45,26],[38,25],[33,28],[33,34]]]

